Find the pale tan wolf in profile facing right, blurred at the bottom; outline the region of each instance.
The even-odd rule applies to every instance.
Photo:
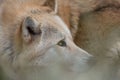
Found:
[[[0,4],[0,66],[7,80],[75,80],[93,65],[93,56],[73,42],[58,3]]]

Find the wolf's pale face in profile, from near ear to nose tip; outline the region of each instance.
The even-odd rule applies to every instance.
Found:
[[[42,67],[45,70],[57,65],[60,70],[67,68],[65,72],[74,74],[88,69],[92,56],[74,44],[60,17],[55,14],[41,15],[25,18],[21,30],[23,46],[14,64],[21,68]]]

